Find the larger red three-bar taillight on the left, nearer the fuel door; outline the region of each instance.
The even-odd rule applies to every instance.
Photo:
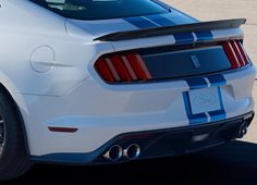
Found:
[[[144,60],[137,53],[103,55],[97,60],[95,67],[108,83],[152,79]]]

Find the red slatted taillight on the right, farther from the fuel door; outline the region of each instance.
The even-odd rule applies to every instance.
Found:
[[[240,69],[249,64],[248,58],[240,40],[222,42],[222,47],[231,63],[231,69]]]

